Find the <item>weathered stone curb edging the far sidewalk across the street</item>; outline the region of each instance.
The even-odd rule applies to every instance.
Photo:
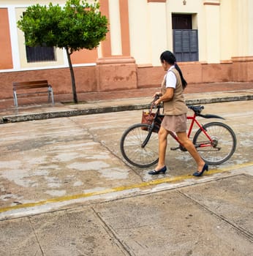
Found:
[[[252,100],[253,95],[243,95],[243,96],[234,96],[234,97],[216,97],[211,99],[188,99],[186,100],[186,105],[199,105],[199,104],[211,104],[219,102],[235,102],[235,101],[246,101]],[[0,117],[0,124],[6,123],[15,123],[21,121],[33,121],[33,120],[42,120],[49,118],[61,118],[61,117],[70,117],[70,116],[84,116],[92,115],[98,113],[110,113],[110,112],[120,112],[127,110],[142,110],[150,107],[150,103],[146,104],[135,104],[135,105],[115,105],[110,107],[94,107],[81,110],[64,110],[56,112],[47,112],[47,113],[29,113],[16,116],[2,116]]]

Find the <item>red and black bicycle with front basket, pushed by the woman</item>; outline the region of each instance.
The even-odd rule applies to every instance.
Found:
[[[154,101],[151,102],[151,110],[154,107]],[[120,142],[121,154],[131,165],[150,167],[158,162],[159,127],[157,128],[157,126],[163,118],[160,114],[160,108],[162,105],[158,105],[156,113],[153,113],[151,124],[134,124],[123,133]],[[236,148],[236,136],[233,129],[218,121],[204,125],[197,121],[198,116],[224,118],[212,114],[201,114],[204,109],[203,105],[189,105],[188,108],[193,111],[193,116],[187,116],[187,120],[190,120],[187,136],[190,138],[194,124],[199,127],[193,136],[192,143],[200,157],[208,165],[220,165],[230,159]],[[186,148],[179,142],[177,135],[174,132],[169,134],[178,142],[178,146],[170,148],[170,150],[186,151]]]

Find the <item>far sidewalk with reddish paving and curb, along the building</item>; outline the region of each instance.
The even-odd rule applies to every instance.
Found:
[[[81,116],[148,108],[151,96],[159,88],[129,91],[78,94],[79,104],[70,104],[72,95],[56,95],[54,105],[36,103],[40,99],[20,99],[23,105],[13,106],[12,99],[0,101],[0,124],[17,121]],[[185,91],[187,105],[253,99],[253,83],[192,84]],[[31,103],[33,101],[33,103]],[[29,104],[30,103],[30,104]]]

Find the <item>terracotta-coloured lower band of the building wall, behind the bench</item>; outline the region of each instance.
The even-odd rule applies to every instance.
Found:
[[[233,57],[219,64],[205,62],[178,63],[187,83],[253,82],[253,56]],[[132,57],[97,59],[97,65],[74,67],[78,94],[99,91],[159,87],[165,71],[161,66],[137,66]],[[69,68],[1,72],[0,99],[12,98],[12,83],[29,80],[48,80],[57,95],[72,94]],[[151,92],[152,94],[152,92]],[[69,99],[71,100],[71,99]]]

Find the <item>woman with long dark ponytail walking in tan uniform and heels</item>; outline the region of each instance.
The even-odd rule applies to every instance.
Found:
[[[195,159],[197,171],[193,176],[202,176],[205,170],[208,170],[208,165],[198,154],[192,141],[189,140],[186,134],[186,113],[188,108],[184,102],[183,91],[187,86],[184,80],[181,69],[176,64],[175,56],[169,50],[166,50],[160,56],[162,67],[167,71],[164,80],[162,81],[162,92],[156,92],[154,96],[159,96],[154,103],[159,105],[163,102],[164,114],[161,127],[159,129],[159,161],[154,170],[148,174],[156,175],[165,173],[167,167],[165,165],[165,153],[167,148],[167,135],[169,131],[175,132],[180,143],[187,149],[189,154]]]

